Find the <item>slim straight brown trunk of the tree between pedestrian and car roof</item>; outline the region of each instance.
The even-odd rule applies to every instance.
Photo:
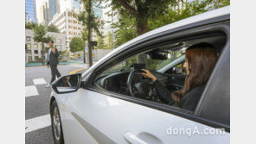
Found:
[[[92,0],[89,0],[89,8],[88,8],[88,50],[89,50],[89,66],[93,66],[93,48],[91,47],[91,8],[92,8]]]

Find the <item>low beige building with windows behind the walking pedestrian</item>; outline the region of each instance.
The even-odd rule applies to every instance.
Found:
[[[48,32],[47,35],[54,38],[54,47],[59,51],[63,52],[67,50],[65,34]],[[25,44],[28,54],[28,62],[40,61],[40,59],[42,59],[42,43],[34,41],[33,36],[33,30],[25,29]],[[44,47],[48,47],[48,44],[45,43]]]

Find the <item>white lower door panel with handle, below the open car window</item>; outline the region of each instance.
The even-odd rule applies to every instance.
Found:
[[[228,134],[175,134],[172,129],[197,128],[202,132],[212,128],[188,119],[193,114],[184,111],[181,116],[174,115],[93,89],[70,95],[66,107],[66,143],[229,143]]]

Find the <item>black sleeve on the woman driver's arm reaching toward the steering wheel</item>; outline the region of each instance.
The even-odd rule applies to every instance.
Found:
[[[171,97],[171,92],[168,89],[166,89],[166,87],[161,85],[161,83],[158,80],[154,82],[154,85],[157,89],[157,94],[161,101],[163,101],[164,103],[174,103]]]

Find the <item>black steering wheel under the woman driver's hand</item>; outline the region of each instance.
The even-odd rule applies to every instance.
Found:
[[[144,81],[142,78],[144,76],[141,74],[141,70],[134,70],[131,71],[128,78],[127,78],[127,92],[131,95],[131,97],[141,97],[144,99],[156,99],[156,91],[153,90],[152,86],[150,85],[149,79],[145,79]],[[139,78],[139,82],[137,84],[132,84],[132,81],[134,80],[134,75],[139,74],[141,75],[141,78]]]

